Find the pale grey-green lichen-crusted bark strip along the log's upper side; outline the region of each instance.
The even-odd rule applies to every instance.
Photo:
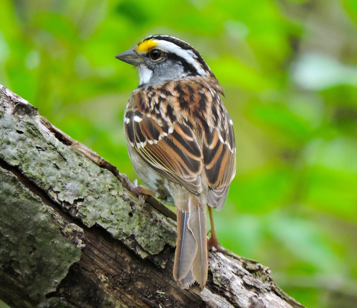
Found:
[[[32,116],[2,114],[0,131],[0,159],[19,168],[86,226],[98,224],[124,241],[134,236],[142,257],[158,254],[165,244],[175,247],[174,221],[156,212],[151,218],[141,213],[114,174],[45,134]],[[158,223],[160,228],[155,228]]]

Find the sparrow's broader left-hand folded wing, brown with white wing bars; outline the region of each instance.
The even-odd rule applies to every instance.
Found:
[[[190,127],[158,121],[137,109],[126,112],[124,127],[131,146],[147,165],[193,193],[202,192],[203,156]]]

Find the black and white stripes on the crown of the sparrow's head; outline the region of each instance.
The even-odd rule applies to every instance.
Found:
[[[190,44],[169,35],[152,35],[147,37],[144,41],[148,40],[157,43],[157,48],[167,54],[171,54],[172,58],[181,61],[184,67],[184,62],[187,62],[188,65],[186,65],[186,69],[191,75],[208,76],[212,74],[211,69],[205,60],[203,60],[200,53]]]

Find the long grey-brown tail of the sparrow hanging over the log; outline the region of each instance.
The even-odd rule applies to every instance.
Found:
[[[188,199],[188,207],[177,207],[177,240],[174,261],[174,278],[182,288],[195,281],[201,289],[207,281],[206,205],[195,198]]]

